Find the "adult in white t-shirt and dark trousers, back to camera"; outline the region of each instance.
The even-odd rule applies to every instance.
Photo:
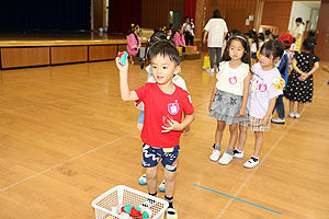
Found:
[[[215,64],[215,53],[216,53],[216,66],[218,68],[220,57],[222,57],[222,48],[225,37],[227,35],[227,25],[226,22],[222,19],[220,12],[218,9],[214,11],[213,18],[208,21],[208,23],[204,27],[203,43],[207,42],[207,47],[209,49],[209,58],[211,58],[211,69],[205,69],[208,72],[215,72],[214,64]]]

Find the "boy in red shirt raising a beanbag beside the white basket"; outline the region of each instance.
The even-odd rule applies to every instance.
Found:
[[[127,82],[128,64],[116,66],[120,70],[120,89],[123,101],[140,100],[145,104],[145,120],[141,130],[143,166],[146,168],[148,193],[157,195],[157,165],[164,166],[166,193],[169,203],[167,218],[178,218],[173,208],[177,161],[182,130],[194,119],[190,94],[172,83],[172,77],[180,70],[180,54],[168,41],[155,43],[147,53],[152,76],[157,83],[146,83],[131,91]],[[182,113],[185,116],[182,119]]]

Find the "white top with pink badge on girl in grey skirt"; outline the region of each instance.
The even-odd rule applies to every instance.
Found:
[[[219,64],[219,72],[216,76],[216,88],[219,91],[242,96],[243,82],[249,70],[249,65],[245,62],[242,62],[238,68],[232,69],[229,67],[229,61],[222,61]]]

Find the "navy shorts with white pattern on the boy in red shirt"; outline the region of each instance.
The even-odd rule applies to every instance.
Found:
[[[144,168],[154,168],[158,165],[161,159],[161,163],[166,170],[175,172],[179,153],[180,146],[173,148],[154,148],[144,143],[141,165]]]

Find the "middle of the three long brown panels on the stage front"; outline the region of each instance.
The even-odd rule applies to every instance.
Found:
[[[50,47],[52,64],[88,61],[88,46]]]

